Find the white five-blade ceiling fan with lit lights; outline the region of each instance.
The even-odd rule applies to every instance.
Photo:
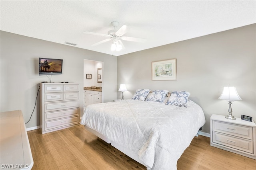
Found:
[[[92,46],[96,46],[96,45],[99,45],[99,44],[102,44],[102,43],[112,40],[112,44],[111,44],[111,48],[110,48],[111,51],[120,51],[121,49],[124,48],[124,45],[123,45],[121,39],[125,40],[125,41],[134,41],[134,42],[141,42],[141,43],[146,41],[146,39],[143,39],[143,38],[123,36],[125,33],[128,32],[129,26],[127,26],[127,25],[123,25],[118,30],[116,30],[116,27],[118,27],[119,22],[113,21],[113,22],[111,22],[111,25],[114,27],[114,29],[108,31],[108,34],[94,33],[94,32],[89,32],[89,31],[84,32],[86,34],[100,35],[100,36],[108,37],[107,39],[104,39],[98,43],[92,44]]]

